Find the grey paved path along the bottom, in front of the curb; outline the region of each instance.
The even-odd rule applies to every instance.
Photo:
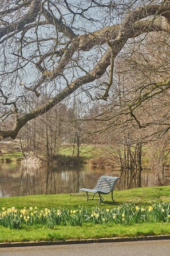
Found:
[[[0,248],[2,256],[169,256],[170,240]]]

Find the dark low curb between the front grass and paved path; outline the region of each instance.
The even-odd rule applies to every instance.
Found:
[[[139,236],[137,238],[100,238],[100,239],[82,239],[82,240],[58,240],[58,241],[40,241],[40,242],[10,242],[0,243],[0,248],[5,247],[27,247],[27,246],[52,246],[66,244],[89,244],[89,243],[114,243],[114,242],[135,242],[149,240],[170,240],[170,235],[160,236]]]

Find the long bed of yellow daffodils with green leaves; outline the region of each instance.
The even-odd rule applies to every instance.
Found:
[[[144,222],[169,222],[170,204],[156,203],[144,208],[135,204],[122,204],[110,209],[78,208],[78,209],[29,209],[2,208],[0,225],[9,228],[24,228],[25,226],[44,225],[53,228],[56,225],[81,226],[82,223],[95,224],[135,224]]]

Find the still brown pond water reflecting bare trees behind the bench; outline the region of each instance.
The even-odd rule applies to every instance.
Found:
[[[23,163],[0,163],[0,197],[31,194],[78,193],[81,188],[94,188],[101,175],[121,177],[115,189],[154,186],[149,170],[97,169],[85,166],[39,166]]]

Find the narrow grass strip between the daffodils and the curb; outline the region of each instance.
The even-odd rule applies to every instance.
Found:
[[[86,224],[82,227],[57,226],[53,229],[31,227],[10,230],[1,227],[0,242],[53,241],[89,238],[126,238],[146,235],[170,235],[170,223],[145,223],[133,226]]]

